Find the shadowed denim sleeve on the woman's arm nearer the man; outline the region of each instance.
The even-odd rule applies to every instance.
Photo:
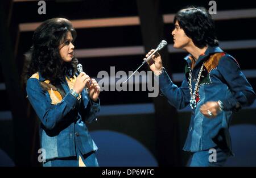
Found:
[[[93,122],[97,120],[98,113],[100,113],[100,98],[96,102],[90,100],[89,94],[86,90],[82,90],[82,105],[80,107],[80,113],[82,119],[86,122]]]

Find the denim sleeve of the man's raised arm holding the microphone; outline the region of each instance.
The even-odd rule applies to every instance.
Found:
[[[164,69],[164,72],[159,75],[159,86],[164,96],[167,97],[168,102],[176,109],[183,109],[189,104],[190,93],[186,78],[184,78],[181,86],[178,87],[172,82]]]

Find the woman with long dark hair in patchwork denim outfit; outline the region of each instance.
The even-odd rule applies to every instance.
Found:
[[[44,166],[98,166],[96,144],[85,122],[100,111],[100,86],[77,72],[76,31],[64,18],[48,19],[33,36],[26,54],[27,97],[40,119]]]

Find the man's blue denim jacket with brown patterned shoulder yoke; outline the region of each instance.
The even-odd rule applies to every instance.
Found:
[[[167,97],[168,102],[177,109],[189,105],[191,95],[188,88],[189,68],[192,57],[185,57],[185,77],[180,87],[177,87],[164,71],[159,75],[160,90]],[[192,90],[195,89],[200,67],[204,69],[199,83],[199,93],[196,97],[197,106],[192,110],[191,122],[184,151],[202,151],[216,146],[229,150],[232,154],[229,123],[233,111],[242,106],[251,105],[255,100],[253,88],[246,80],[237,61],[224,53],[219,47],[208,47],[207,51],[199,56],[192,69]],[[200,106],[208,101],[222,101],[224,110],[215,118],[207,118],[200,112]]]

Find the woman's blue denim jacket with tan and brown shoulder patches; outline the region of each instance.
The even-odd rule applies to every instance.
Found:
[[[75,76],[66,77],[56,90],[55,86],[44,89],[43,86],[49,81],[39,72],[27,80],[28,100],[41,122],[40,143],[46,151],[46,160],[76,156],[76,147],[82,154],[97,150],[85,122],[97,119],[100,100],[90,101],[85,89],[81,92],[80,100],[77,100],[70,93],[75,79]]]

